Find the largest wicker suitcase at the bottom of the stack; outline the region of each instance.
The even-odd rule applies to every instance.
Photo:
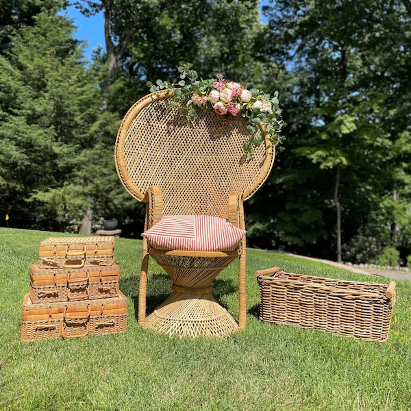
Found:
[[[21,312],[22,341],[111,334],[125,331],[127,298],[120,292],[114,298],[33,303],[26,294]]]

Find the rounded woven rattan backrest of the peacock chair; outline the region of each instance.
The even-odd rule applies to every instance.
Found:
[[[266,139],[251,160],[242,149],[249,136],[245,119],[225,119],[203,110],[187,121],[167,110],[167,92],[155,92],[129,109],[116,139],[116,169],[127,191],[139,201],[150,186],[162,189],[163,214],[209,214],[227,218],[230,192],[245,199],[260,188],[274,160]]]

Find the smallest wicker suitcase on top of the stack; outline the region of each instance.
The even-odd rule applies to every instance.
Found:
[[[50,237],[40,242],[38,257],[42,268],[110,266],[114,262],[114,237]]]

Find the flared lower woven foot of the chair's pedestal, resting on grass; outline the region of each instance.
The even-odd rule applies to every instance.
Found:
[[[173,291],[145,320],[145,327],[169,336],[219,336],[238,330],[233,317],[211,292],[187,294]]]

